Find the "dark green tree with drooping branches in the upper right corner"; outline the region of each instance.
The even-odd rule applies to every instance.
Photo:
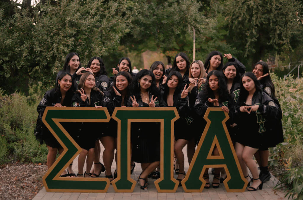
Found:
[[[302,30],[301,10],[295,0],[229,1],[227,40],[243,52],[241,60],[253,65],[265,54],[280,53],[284,45],[291,48],[291,38]]]

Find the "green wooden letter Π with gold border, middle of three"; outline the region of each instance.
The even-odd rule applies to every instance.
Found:
[[[131,122],[161,123],[161,178],[155,181],[158,192],[176,192],[179,182],[173,173],[174,122],[179,118],[175,107],[116,107],[112,118],[118,122],[118,178],[112,181],[116,192],[133,192],[130,176]]]

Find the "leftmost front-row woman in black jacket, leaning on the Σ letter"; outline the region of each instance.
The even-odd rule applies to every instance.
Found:
[[[40,144],[46,144],[48,148],[47,154],[47,167],[48,169],[54,164],[57,156],[57,151],[59,154],[63,152],[63,148],[57,139],[52,135],[48,128],[42,122],[42,116],[45,108],[48,106],[62,107],[70,106],[73,91],[72,91],[72,75],[66,71],[60,71],[60,75],[57,77],[56,86],[54,89],[47,91],[44,94],[43,99],[37,107],[37,112],[39,113],[37,126],[35,129],[36,139]],[[67,173],[64,171],[61,177],[75,177],[75,173],[72,170],[72,164],[68,166]]]

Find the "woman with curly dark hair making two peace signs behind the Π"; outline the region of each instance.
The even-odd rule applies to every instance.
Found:
[[[155,75],[149,70],[141,70],[132,82],[129,107],[159,107],[160,90],[156,86]],[[138,177],[141,189],[147,190],[147,176],[160,163],[160,123],[132,122],[132,161],[141,163],[142,173]]]

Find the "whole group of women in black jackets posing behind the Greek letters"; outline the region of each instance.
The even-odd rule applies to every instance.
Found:
[[[223,66],[224,57],[228,63]],[[267,168],[268,147],[283,141],[281,108],[265,62],[256,63],[253,72],[245,73],[245,66],[231,54],[224,54],[224,57],[220,52],[212,51],[204,64],[199,60],[190,63],[188,56],[181,52],[175,56],[172,68],[165,70],[161,61],[155,61],[150,70],[144,69],[137,74],[132,73],[131,61],[123,57],[113,68],[114,76],[108,79],[100,57],[92,57],[85,68],[81,67],[77,53],[69,53],[64,69],[57,74],[55,88],[45,93],[37,108],[39,116],[35,135],[41,144],[44,141],[48,146],[48,168],[55,162],[57,151],[62,153],[63,149],[42,123],[47,106],[106,107],[111,115],[115,107],[176,107],[180,118],[175,121],[174,128],[174,169],[180,182],[185,178],[182,149],[187,145],[190,163],[206,126],[203,116],[207,108],[220,107],[230,117],[226,125],[241,169],[249,181],[248,186],[254,180],[248,190],[262,189],[262,184],[271,177]],[[61,124],[82,148],[78,157],[78,177],[98,177],[104,171],[110,181],[117,177],[117,171],[114,176],[111,171],[114,157],[117,162],[115,120]],[[99,141],[105,149],[102,156],[104,165],[100,162]],[[141,163],[138,185],[147,190],[148,177],[160,177],[160,123],[132,122],[131,149],[131,173],[135,162]],[[213,155],[219,155],[216,147]],[[83,172],[85,159],[86,172]],[[75,177],[72,163],[61,177]],[[218,188],[226,177],[224,169],[214,169],[212,187]],[[203,178],[207,182],[205,188],[209,188],[208,169]]]

